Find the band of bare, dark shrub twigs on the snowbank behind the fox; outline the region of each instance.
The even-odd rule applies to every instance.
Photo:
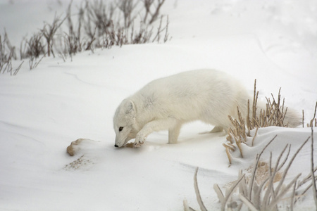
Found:
[[[144,44],[166,42],[169,20],[160,15],[165,0],[83,0],[78,13],[72,13],[72,3],[68,6],[65,17],[55,15],[51,23],[44,23],[42,29],[29,39],[23,38],[20,44],[20,59],[28,58],[30,70],[37,67],[40,56],[54,56],[56,52],[64,61],[81,51],[110,49],[112,46],[126,44]],[[75,21],[73,20],[75,18]],[[157,30],[154,22],[159,20]],[[68,32],[64,32],[67,23]],[[137,23],[137,24],[135,24]],[[0,36],[0,73],[16,75],[23,62],[14,69],[11,60],[17,59],[16,48]]]

